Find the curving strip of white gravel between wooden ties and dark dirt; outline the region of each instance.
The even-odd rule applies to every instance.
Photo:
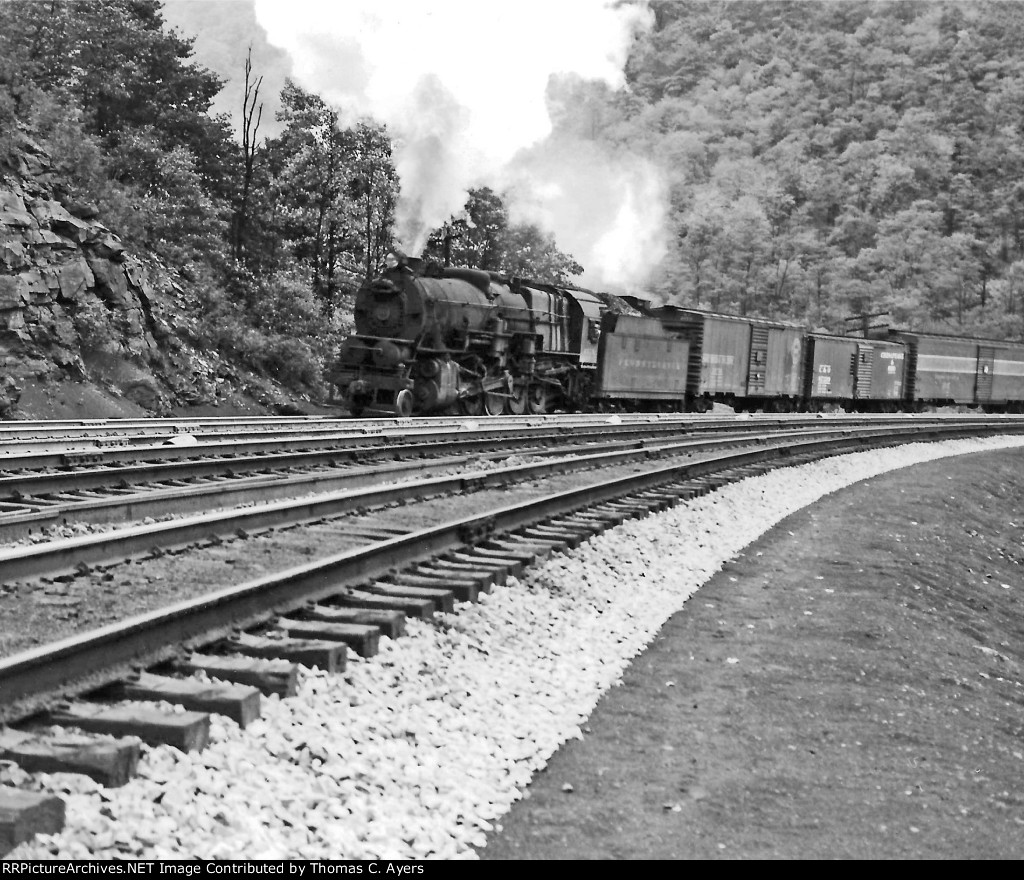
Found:
[[[496,820],[662,624],[743,546],[853,481],[1024,446],[949,441],[861,453],[735,484],[626,523],[437,626],[383,639],[344,676],[218,719],[199,755],[147,752],[122,789],[2,771],[65,793],[69,827],[13,857],[473,858]]]

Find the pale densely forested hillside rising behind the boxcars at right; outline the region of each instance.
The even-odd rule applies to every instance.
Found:
[[[671,175],[665,294],[1022,335],[1024,4],[652,6],[601,112]]]

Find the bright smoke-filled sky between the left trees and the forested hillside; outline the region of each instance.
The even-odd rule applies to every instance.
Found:
[[[396,233],[417,253],[467,191],[509,194],[586,268],[584,283],[629,292],[664,252],[663,175],[597,140],[552,139],[549,96],[566,77],[625,86],[630,45],[650,26],[640,3],[605,0],[165,0],[195,35],[196,58],[228,79],[215,111],[238,116],[245,55],[263,76],[260,135],[273,135],[286,77],[395,141]]]

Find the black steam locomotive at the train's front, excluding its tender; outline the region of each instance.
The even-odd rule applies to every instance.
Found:
[[[353,415],[544,413],[582,404],[605,301],[588,291],[395,259],[356,295],[328,380]]]

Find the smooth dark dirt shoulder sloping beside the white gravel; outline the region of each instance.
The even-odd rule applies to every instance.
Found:
[[[1024,856],[1022,465],[896,471],[752,544],[480,856]]]

